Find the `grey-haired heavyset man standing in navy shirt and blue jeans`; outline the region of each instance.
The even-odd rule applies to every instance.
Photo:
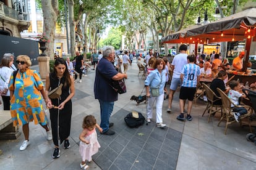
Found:
[[[96,76],[94,83],[95,99],[100,102],[100,127],[103,129],[101,134],[113,135],[114,131],[111,131],[109,127],[113,126],[113,123],[109,123],[109,118],[113,111],[114,102],[117,100],[118,93],[110,86],[111,81],[127,78],[126,74],[118,73],[111,63],[114,60],[115,52],[113,46],[103,47],[103,58],[100,60],[98,67],[96,68]]]

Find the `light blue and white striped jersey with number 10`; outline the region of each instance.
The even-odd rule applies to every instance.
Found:
[[[200,75],[200,67],[194,63],[184,65],[181,74],[183,75],[183,87],[197,87],[197,76]]]

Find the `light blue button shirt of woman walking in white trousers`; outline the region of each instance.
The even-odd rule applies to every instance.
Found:
[[[165,69],[162,70],[162,73],[160,75],[158,69],[151,71],[151,73],[147,76],[147,79],[145,80],[145,85],[150,86],[151,88],[157,88],[159,87],[159,94],[164,93],[164,84],[165,84]]]

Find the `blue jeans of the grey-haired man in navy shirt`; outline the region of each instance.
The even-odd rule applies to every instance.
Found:
[[[109,126],[109,118],[111,116],[111,113],[113,111],[114,102],[105,102],[103,100],[100,100],[100,127],[103,129],[103,133],[108,131]]]

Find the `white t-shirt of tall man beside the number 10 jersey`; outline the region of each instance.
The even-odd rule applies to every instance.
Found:
[[[187,64],[187,54],[180,53],[175,55],[171,65],[174,65],[173,78],[180,78],[181,70]]]

